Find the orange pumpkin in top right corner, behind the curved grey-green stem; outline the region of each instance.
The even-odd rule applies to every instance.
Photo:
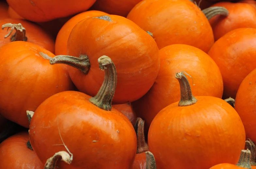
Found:
[[[238,28],[256,28],[256,9],[246,3],[219,2],[212,6],[225,7],[229,14],[227,17],[217,15],[209,20],[214,39]]]

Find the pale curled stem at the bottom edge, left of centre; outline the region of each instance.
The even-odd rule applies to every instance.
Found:
[[[71,162],[73,160],[72,156],[70,157],[68,152],[59,151],[46,161],[46,163],[44,165],[44,169],[55,169],[56,163],[59,158],[61,158],[61,161],[64,161],[67,164],[71,164]]]

